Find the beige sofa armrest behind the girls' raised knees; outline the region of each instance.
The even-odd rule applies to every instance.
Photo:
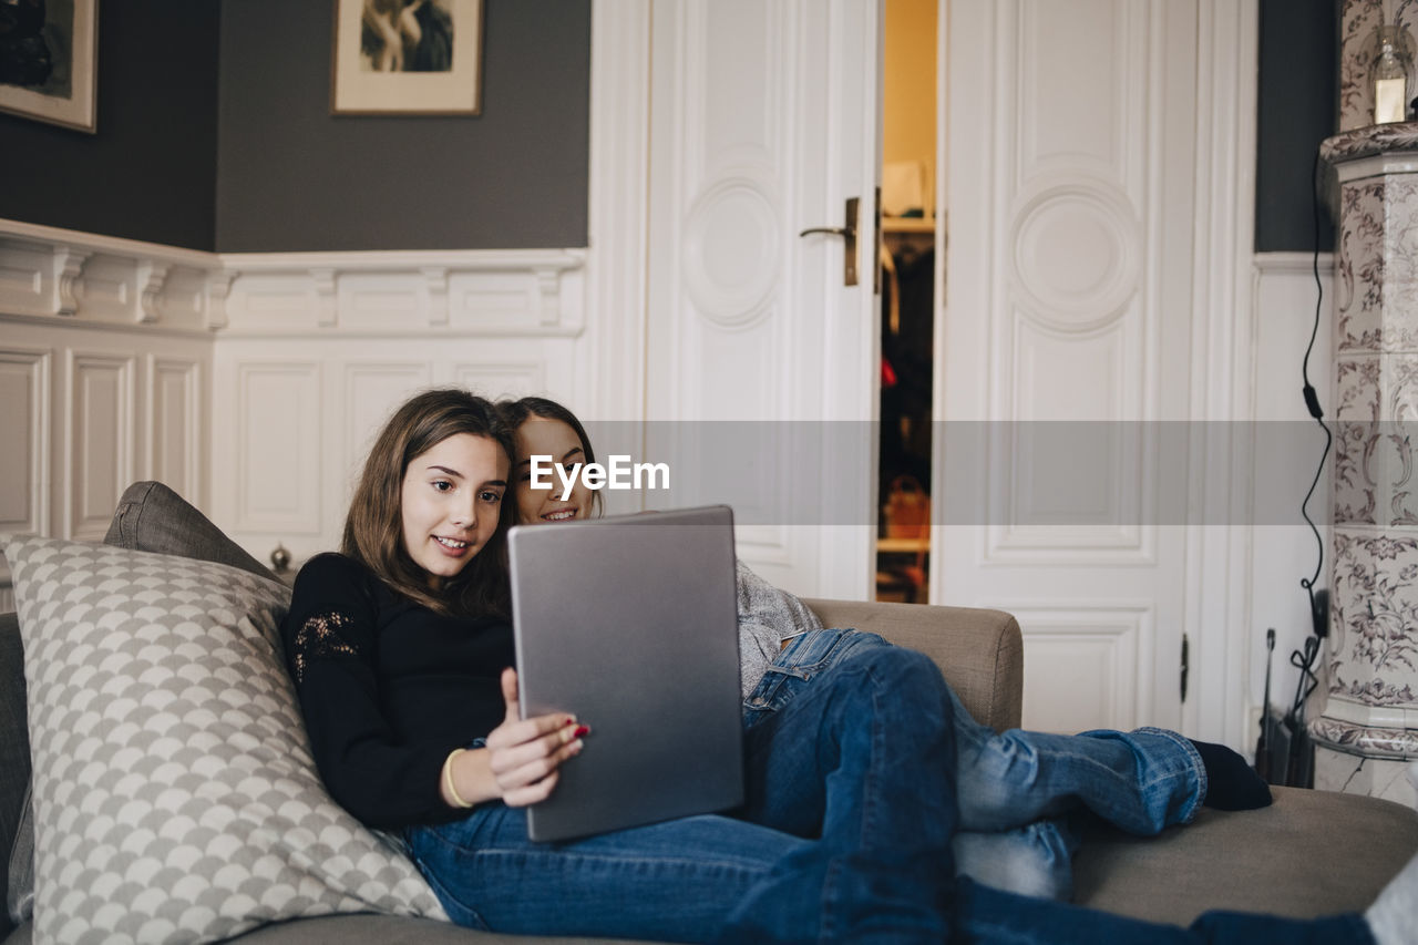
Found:
[[[861,600],[805,600],[825,627],[855,627],[919,650],[977,721],[1003,732],[1020,726],[1024,637],[1003,610]]]

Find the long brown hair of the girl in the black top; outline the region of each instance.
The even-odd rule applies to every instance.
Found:
[[[437,595],[428,590],[428,575],[404,548],[401,497],[408,464],[459,433],[488,437],[512,465],[516,454],[512,434],[491,402],[461,387],[415,394],[374,438],[345,516],[340,552],[363,563],[393,590],[438,613],[506,617],[512,613],[508,528],[516,509],[509,497],[502,501],[492,538]]]

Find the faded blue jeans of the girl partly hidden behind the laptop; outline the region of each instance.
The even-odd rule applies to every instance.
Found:
[[[858,630],[794,637],[744,702],[744,725],[752,732],[783,680],[807,684],[849,654],[891,646]],[[960,807],[956,871],[987,885],[1069,898],[1078,833],[1064,814],[1085,807],[1150,836],[1190,822],[1205,796],[1201,756],[1176,732],[997,734],[974,721],[953,691],[950,700]]]

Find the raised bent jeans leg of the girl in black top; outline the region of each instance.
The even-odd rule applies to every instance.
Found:
[[[749,701],[740,814],[820,839],[757,894],[815,897],[824,939],[943,941],[956,819],[944,680],[912,650],[847,640],[837,653],[844,637],[811,636]],[[746,910],[767,914],[754,900]]]

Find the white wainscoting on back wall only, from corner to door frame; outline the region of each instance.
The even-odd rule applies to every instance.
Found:
[[[339,545],[353,480],[411,392],[569,402],[584,251],[227,254],[214,355],[211,515],[265,560]]]

